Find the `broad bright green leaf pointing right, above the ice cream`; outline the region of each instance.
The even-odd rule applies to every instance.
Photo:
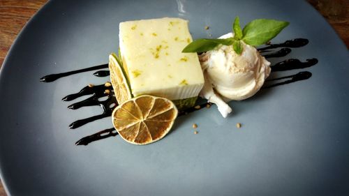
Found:
[[[267,43],[287,27],[289,22],[257,19],[246,24],[242,30],[242,40],[248,45],[258,46]]]

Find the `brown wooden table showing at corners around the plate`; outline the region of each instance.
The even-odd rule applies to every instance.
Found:
[[[308,0],[326,17],[329,24],[349,46],[347,0]],[[13,40],[24,24],[46,3],[46,0],[0,0],[0,68]],[[0,181],[0,196],[6,196]]]

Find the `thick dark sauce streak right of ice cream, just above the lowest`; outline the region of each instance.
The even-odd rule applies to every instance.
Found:
[[[287,59],[280,63],[276,63],[274,66],[271,66],[272,72],[274,71],[283,71],[283,70],[294,70],[309,68],[318,63],[318,59],[306,59],[306,62],[301,62],[299,59]]]

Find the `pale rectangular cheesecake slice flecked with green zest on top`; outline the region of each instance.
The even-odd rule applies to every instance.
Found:
[[[198,55],[181,52],[191,41],[188,21],[180,18],[121,22],[121,59],[133,96],[161,96],[179,109],[193,106],[204,77]]]

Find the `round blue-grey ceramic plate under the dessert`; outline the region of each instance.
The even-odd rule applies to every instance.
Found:
[[[193,37],[202,38],[230,31],[236,15],[242,24],[289,21],[273,42],[310,43],[270,60],[318,58],[304,69],[313,76],[232,102],[235,113],[227,119],[215,107],[180,117],[168,136],[147,146],[121,137],[75,146],[112,122],[70,130],[69,123],[101,108],[67,110],[61,98],[107,78],[90,72],[39,82],[49,73],[106,63],[117,51],[121,21],[183,17]],[[348,65],[346,46],[305,1],[50,1],[20,33],[1,70],[1,177],[9,195],[348,195]]]

